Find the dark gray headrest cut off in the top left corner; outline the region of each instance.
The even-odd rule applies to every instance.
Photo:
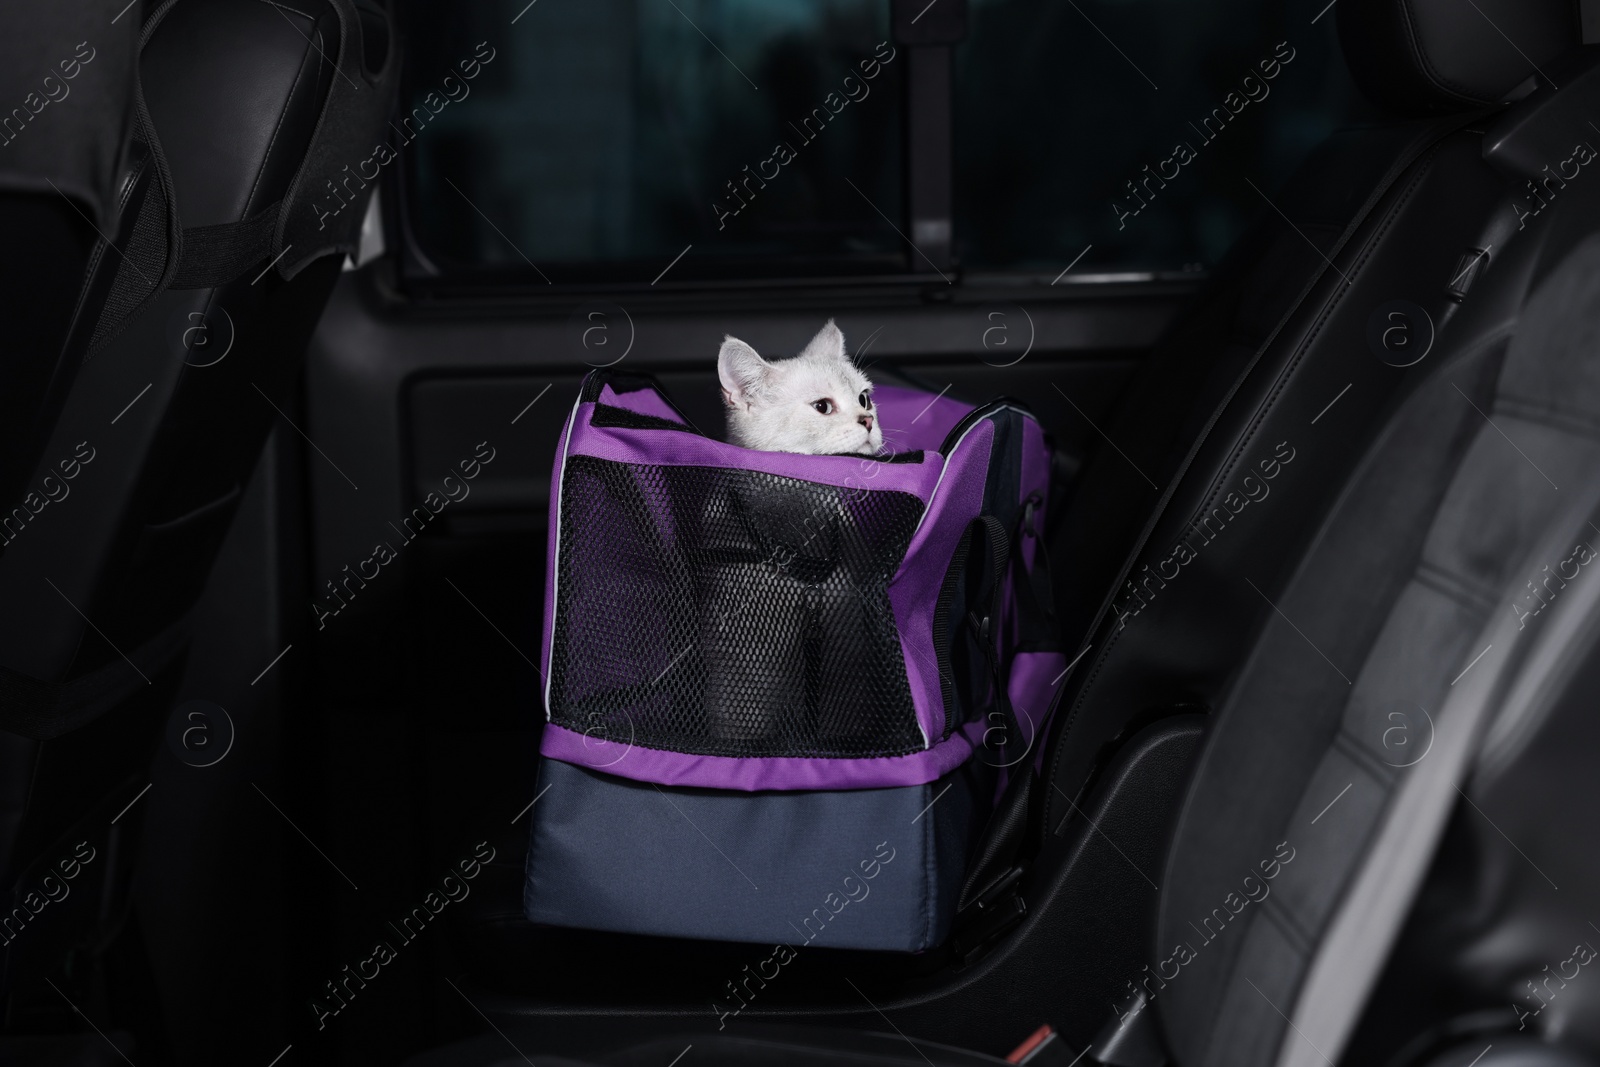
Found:
[[[0,35],[0,192],[59,192],[101,230],[115,229],[139,46],[138,11],[107,19],[104,3],[56,0]]]

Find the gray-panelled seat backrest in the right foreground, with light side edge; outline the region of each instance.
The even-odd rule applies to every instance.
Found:
[[[1488,128],[1491,165],[1538,174],[1573,139],[1600,104],[1586,61]],[[1157,993],[1178,1062],[1338,1054],[1403,915],[1381,894],[1414,893],[1486,721],[1546,680],[1539,651],[1592,625],[1544,614],[1563,589],[1546,568],[1592,537],[1600,501],[1600,186],[1562,194],[1418,365],[1219,702],[1155,944],[1190,939],[1253,851],[1290,840],[1304,861]]]

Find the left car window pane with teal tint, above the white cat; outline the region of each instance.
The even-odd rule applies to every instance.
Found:
[[[674,278],[904,261],[904,62],[880,0],[408,16],[410,104],[446,101],[406,174],[413,237],[442,270],[650,282],[680,254]],[[478,42],[480,75],[451,101],[443,78]]]

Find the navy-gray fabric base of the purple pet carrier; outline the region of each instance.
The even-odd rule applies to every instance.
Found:
[[[653,785],[541,760],[534,923],[920,952],[949,933],[992,771],[848,792]]]

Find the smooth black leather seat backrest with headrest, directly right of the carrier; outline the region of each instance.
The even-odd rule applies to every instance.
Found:
[[[1120,402],[1106,435],[1160,490],[1112,448],[1085,464],[1051,545],[1086,653],[1062,685],[1046,825],[1118,737],[1216,699],[1328,486],[1426,374],[1406,365],[1517,235],[1506,197],[1530,176],[1486,160],[1483,130],[1581,43],[1578,11],[1466,11],[1341,0],[1350,70],[1394,122],[1318,146]]]

